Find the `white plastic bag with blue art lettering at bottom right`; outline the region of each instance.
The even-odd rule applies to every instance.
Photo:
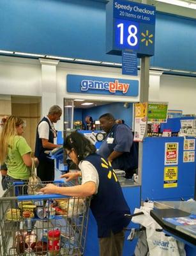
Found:
[[[185,250],[179,253],[177,241],[172,236],[165,236],[165,233],[156,230],[146,230],[146,236],[150,256],[186,255]]]

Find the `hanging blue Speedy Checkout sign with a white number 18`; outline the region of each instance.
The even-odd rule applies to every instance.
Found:
[[[110,0],[106,5],[106,50],[121,55],[123,50],[137,52],[137,57],[155,52],[154,6],[130,1]]]

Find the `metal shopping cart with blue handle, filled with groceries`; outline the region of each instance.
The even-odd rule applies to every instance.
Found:
[[[0,198],[0,255],[82,255],[91,198],[25,195],[28,186],[15,182]]]

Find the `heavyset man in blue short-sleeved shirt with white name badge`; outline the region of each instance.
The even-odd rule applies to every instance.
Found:
[[[116,124],[110,113],[100,116],[99,120],[107,137],[98,154],[108,159],[114,170],[124,170],[125,177],[132,178],[138,167],[138,145],[133,142],[132,130],[125,124]]]

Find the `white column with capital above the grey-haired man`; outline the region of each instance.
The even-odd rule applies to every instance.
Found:
[[[41,117],[47,115],[52,105],[56,105],[57,60],[39,59],[41,63]]]

